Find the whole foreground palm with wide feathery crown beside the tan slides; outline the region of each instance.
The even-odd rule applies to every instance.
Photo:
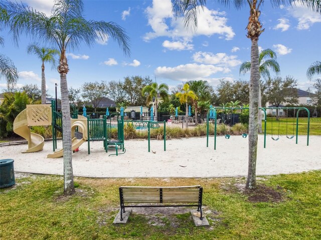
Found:
[[[33,10],[23,4],[6,2],[10,17],[10,27],[14,39],[18,42],[19,35],[26,33],[34,39],[43,40],[60,50],[58,72],[60,73],[61,105],[63,112],[63,148],[64,148],[64,193],[75,192],[72,150],[71,121],[68,99],[67,73],[69,71],[66,51],[77,49],[82,42],[88,46],[95,39],[104,39],[106,35],[116,39],[125,54],[129,51],[129,38],[125,30],[114,22],[86,20],[83,17],[82,0],[56,0],[51,16]]]

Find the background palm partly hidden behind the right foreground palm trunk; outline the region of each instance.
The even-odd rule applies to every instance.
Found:
[[[269,78],[270,77],[270,69],[274,71],[276,74],[280,72],[280,65],[279,63],[275,60],[276,58],[276,53],[267,48],[264,49],[260,52],[259,54],[259,72],[260,72],[260,77],[263,76],[263,78]],[[246,72],[251,70],[251,62],[250,61],[245,61],[241,64],[240,66],[240,74],[243,73],[245,74]],[[259,107],[262,107],[262,93],[261,93],[261,84],[260,84],[260,90],[259,90]],[[262,113],[261,109],[259,109],[259,114],[258,114],[258,131],[262,132]]]

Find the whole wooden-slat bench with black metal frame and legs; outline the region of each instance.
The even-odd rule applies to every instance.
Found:
[[[202,215],[203,187],[197,186],[120,186],[120,220],[125,207],[168,207],[168,206],[197,206]],[[128,205],[126,203],[129,203]],[[130,205],[130,203],[189,203],[184,205],[153,204],[153,205]],[[191,204],[194,203],[194,204]]]

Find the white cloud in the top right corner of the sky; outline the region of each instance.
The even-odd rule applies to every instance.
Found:
[[[287,10],[298,20],[296,28],[299,30],[309,29],[313,23],[321,22],[321,15],[319,13],[313,12],[298,1],[295,2],[295,7],[289,6]]]

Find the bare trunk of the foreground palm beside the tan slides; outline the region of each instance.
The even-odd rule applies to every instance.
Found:
[[[58,72],[60,73],[61,108],[63,123],[63,148],[64,148],[64,194],[70,195],[75,192],[74,174],[72,169],[71,147],[71,118],[68,98],[67,73],[69,71],[65,51],[62,50]]]

